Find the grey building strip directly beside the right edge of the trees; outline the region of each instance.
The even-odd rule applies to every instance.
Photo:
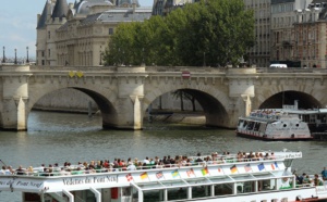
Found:
[[[243,0],[246,10],[254,11],[255,45],[247,50],[247,62],[257,67],[266,67],[270,60],[270,1]]]

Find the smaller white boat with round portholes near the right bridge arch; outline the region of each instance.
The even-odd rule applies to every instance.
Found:
[[[237,135],[262,140],[312,140],[307,123],[298,114],[280,110],[256,110],[240,117]]]

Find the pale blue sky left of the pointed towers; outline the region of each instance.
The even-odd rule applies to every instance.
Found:
[[[1,0],[2,2],[3,0]],[[66,0],[73,3],[75,0]],[[138,0],[141,7],[152,7],[153,0]],[[0,7],[0,58],[35,58],[37,14],[41,14],[46,0],[8,0]]]

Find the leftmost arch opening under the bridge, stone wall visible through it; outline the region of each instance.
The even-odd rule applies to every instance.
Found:
[[[98,121],[96,122],[97,128],[114,128],[117,126],[118,113],[113,104],[104,96],[89,89],[63,88],[55,90],[41,97],[33,105],[32,111],[35,110],[80,114],[80,116],[85,117],[84,122],[87,122],[87,116],[89,119],[96,118]]]

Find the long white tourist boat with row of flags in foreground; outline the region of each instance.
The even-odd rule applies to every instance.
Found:
[[[69,172],[52,172],[51,175],[39,171],[0,175],[0,197],[4,191],[17,191],[22,192],[23,202],[286,202],[327,199],[325,185],[296,186],[291,165],[293,160],[302,157],[302,152],[259,153],[266,157],[240,159],[237,154],[213,153],[210,161],[187,166],[166,164],[161,168],[150,165],[147,169],[123,167],[96,173],[71,166]]]

